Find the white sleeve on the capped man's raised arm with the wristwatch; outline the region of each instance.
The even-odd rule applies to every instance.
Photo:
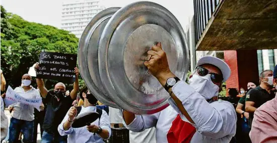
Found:
[[[237,115],[231,103],[218,101],[209,104],[200,93],[184,81],[177,82],[172,91],[194,121],[195,124],[192,125],[198,133],[211,138],[235,135]],[[168,102],[180,114],[182,120],[189,122],[172,98]]]

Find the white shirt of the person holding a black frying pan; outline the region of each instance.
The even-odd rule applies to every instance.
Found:
[[[69,112],[70,110],[68,110]],[[88,106],[88,107],[83,107],[80,111],[79,114],[84,113],[84,112],[96,112],[96,107],[95,106]],[[97,134],[89,132],[87,129],[87,126],[81,127],[81,128],[73,128],[70,127],[68,130],[63,129],[63,124],[65,121],[68,119],[68,112],[66,113],[65,117],[61,121],[61,123],[58,126],[58,132],[60,135],[68,135],[67,136],[67,142],[96,142],[96,143],[102,143],[104,142],[103,139]],[[100,126],[102,129],[106,129],[109,131],[109,137],[111,135],[111,127],[110,127],[110,120],[109,116],[106,111],[102,110],[102,115],[100,117],[100,125],[99,125],[99,119],[95,120],[92,124],[95,124],[97,126]]]

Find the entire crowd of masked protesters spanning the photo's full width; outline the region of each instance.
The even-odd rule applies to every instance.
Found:
[[[218,59],[210,58],[209,60]],[[225,63],[213,65],[206,61],[204,58],[197,63],[194,75],[189,81],[191,87],[180,82],[190,91],[190,96],[185,95],[187,99],[178,97],[180,94],[171,96],[170,108],[147,116],[134,115],[100,103],[86,86],[79,88],[78,68],[75,68],[76,78],[73,90],[70,92],[66,90],[62,82],[56,83],[53,89],[46,89],[40,78],[36,78],[37,87],[35,88],[31,85],[32,77],[24,74],[21,86],[16,87],[14,91],[27,99],[42,98],[42,104],[40,111],[19,102],[10,105],[8,109],[12,113],[12,118],[9,127],[3,100],[5,99],[6,80],[1,70],[1,142],[5,138],[6,142],[37,142],[38,124],[41,127],[42,143],[140,143],[159,142],[159,140],[162,142],[174,142],[174,140],[175,142],[197,142],[197,140],[198,142],[277,142],[277,97],[275,96],[277,66],[274,71],[265,70],[260,73],[259,84],[254,82],[257,79],[253,79],[247,83],[247,90],[229,88],[229,97],[215,99],[213,97],[218,97],[222,81],[229,78],[231,71]],[[227,70],[223,69],[222,65]],[[38,68],[39,64],[36,63],[35,69]],[[209,83],[204,83],[204,80]],[[170,95],[184,92],[184,88],[175,89],[177,86],[181,85],[173,86],[171,89],[173,93],[169,92]],[[198,90],[199,86],[201,89]],[[197,94],[193,92],[194,89]],[[183,101],[178,103],[176,97]],[[190,100],[190,103],[185,103],[186,100]],[[196,105],[197,109],[193,109],[193,112],[189,110]],[[206,108],[205,112],[209,112],[209,115],[202,112],[203,108]],[[78,115],[88,112],[97,113],[98,118],[83,127],[72,126]],[[236,119],[226,120],[227,117],[236,117]],[[211,126],[207,122],[210,122]],[[187,133],[182,129],[183,127],[191,128],[191,131]],[[176,132],[178,137],[176,137]],[[185,141],[187,139],[188,141]]]

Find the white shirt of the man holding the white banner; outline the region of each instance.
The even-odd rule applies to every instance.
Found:
[[[41,98],[39,91],[34,87],[26,92],[24,91],[23,87],[16,87],[15,92],[25,99]],[[25,121],[33,121],[35,119],[33,106],[24,105],[18,102],[12,104],[10,107],[14,107],[13,118]]]

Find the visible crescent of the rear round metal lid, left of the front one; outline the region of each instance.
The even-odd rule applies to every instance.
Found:
[[[101,11],[90,21],[79,41],[78,62],[82,78],[94,96],[103,104],[119,108],[109,97],[99,76],[98,46],[103,29],[120,8]]]

